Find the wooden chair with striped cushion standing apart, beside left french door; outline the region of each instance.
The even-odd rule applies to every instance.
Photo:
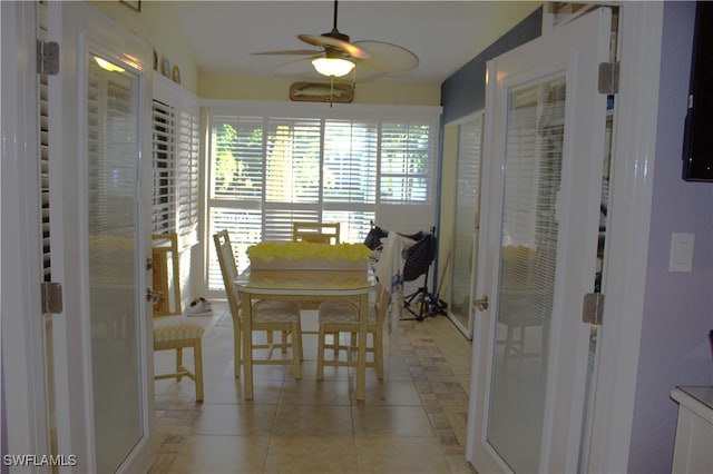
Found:
[[[175,350],[175,369],[172,373],[154,374],[154,379],[183,377],[191,378],[196,384],[196,402],[203,402],[203,334],[204,327],[180,314],[180,283],[178,270],[178,237],[176,234],[154,234],[154,289],[155,295],[163,297],[173,294],[170,298],[155,300],[154,310],[154,350]],[[170,263],[170,267],[168,264]],[[168,271],[170,268],[170,271]],[[168,278],[170,273],[172,278]],[[173,282],[173,288],[168,282]],[[158,298],[156,298],[158,299]],[[173,299],[173,300],[172,300]],[[163,303],[162,303],[163,302]],[[184,365],[183,349],[193,349],[194,369]]]

